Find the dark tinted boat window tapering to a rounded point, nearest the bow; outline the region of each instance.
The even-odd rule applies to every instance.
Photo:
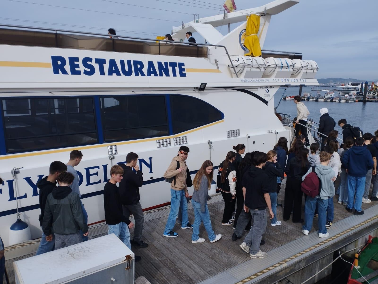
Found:
[[[223,119],[223,113],[203,100],[170,95],[173,133],[177,134]]]

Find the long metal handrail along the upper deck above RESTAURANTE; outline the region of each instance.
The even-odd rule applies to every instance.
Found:
[[[99,33],[95,33],[95,32],[70,31],[70,30],[66,30],[66,29],[51,29],[51,28],[39,28],[39,27],[28,27],[28,26],[19,26],[19,25],[5,25],[5,24],[0,24],[0,26],[11,27],[11,28],[23,28],[23,29],[37,29],[37,30],[44,30],[44,31],[54,31],[54,33],[57,33],[59,31],[59,32],[69,32],[69,33],[73,33],[73,34],[101,35],[101,36],[109,37],[108,34],[99,34]],[[125,36],[125,35],[115,35],[115,36],[118,37],[118,38],[122,38],[122,39],[135,39],[135,40],[143,40],[143,41],[158,41],[159,43],[160,42],[171,42],[171,43],[176,43],[176,44],[180,44],[180,45],[181,44],[182,45],[193,45],[193,43],[191,43],[191,42],[177,42],[177,41],[174,41],[174,40],[146,39],[146,38],[143,38],[143,37],[128,37],[128,36]],[[224,46],[224,45],[212,45],[212,44],[208,44],[208,43],[206,43],[206,44],[202,44],[201,43],[200,45],[215,46],[215,47],[222,47],[222,48],[224,48],[225,51],[226,51],[226,54],[228,56],[228,60],[230,60],[230,63],[232,65],[232,69],[234,69],[236,77],[239,78],[239,76],[236,74],[235,67],[232,64],[232,60],[231,60],[231,57],[230,57],[230,55],[228,53],[228,50],[227,50],[226,46]]]

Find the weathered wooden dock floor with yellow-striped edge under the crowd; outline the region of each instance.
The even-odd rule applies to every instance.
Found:
[[[279,194],[279,202],[283,203],[285,185]],[[348,213],[345,207],[337,203],[337,196],[333,199],[335,218],[333,226],[328,229],[328,239],[320,239],[317,235],[317,219],[314,219],[313,228],[309,236],[302,234],[302,224],[291,221],[282,222],[281,226],[271,227],[268,221],[264,235],[265,245],[261,250],[268,252],[264,259],[250,259],[249,254],[243,252],[238,241],[231,241],[232,226],[222,226],[224,202],[218,193],[209,201],[209,211],[214,232],[222,234],[222,239],[210,243],[203,225],[200,227],[200,236],[205,242],[192,244],[192,230],[182,230],[175,226],[178,238],[164,238],[163,230],[169,215],[170,207],[163,207],[145,212],[143,226],[144,241],[149,243],[147,248],[135,248],[133,252],[142,256],[142,260],[135,265],[135,278],[146,277],[151,283],[250,283],[264,279],[265,283],[278,281],[267,280],[273,273],[289,275],[298,267],[304,267],[322,256],[332,253],[346,243],[355,240],[363,230],[369,230],[378,224],[378,205],[376,202],[363,203],[365,215],[355,216]],[[189,220],[194,221],[194,214],[189,202]],[[282,220],[282,208],[277,208],[277,218]],[[303,213],[302,213],[303,215]],[[90,228],[93,237],[98,234],[104,224]],[[106,226],[106,225],[105,225]],[[360,232],[359,232],[360,231]],[[102,231],[104,232],[104,231]],[[369,231],[370,232],[370,231]],[[133,234],[133,230],[131,230]],[[94,236],[95,235],[95,236]],[[344,241],[343,241],[344,240]],[[33,243],[33,244],[31,244]],[[30,245],[31,244],[31,245]],[[13,261],[35,255],[39,240],[29,242],[34,246],[33,253],[13,258],[17,250],[25,249],[22,245],[5,249],[6,269],[10,282],[14,283]],[[290,273],[290,269],[294,269]],[[283,273],[285,270],[285,273]],[[314,272],[315,273],[315,272]],[[308,275],[310,277],[311,275]],[[271,276],[273,277],[273,276]],[[278,277],[278,276],[276,276]],[[283,276],[285,277],[285,276]]]

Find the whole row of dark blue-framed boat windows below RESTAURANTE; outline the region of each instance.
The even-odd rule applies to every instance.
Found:
[[[11,98],[0,105],[3,153],[172,135],[223,119],[183,95]]]

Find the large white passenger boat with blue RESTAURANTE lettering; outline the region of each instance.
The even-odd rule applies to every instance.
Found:
[[[173,37],[182,40],[187,31],[198,32],[207,42],[200,45],[2,25],[0,235],[5,246],[17,206],[32,239],[41,236],[36,184],[48,175],[51,162],[68,162],[74,149],[84,154],[75,169],[88,223],[98,228],[110,167],[125,163],[130,151],[139,155],[141,204],[149,210],[170,202],[163,174],[180,145],[190,148],[187,165],[195,174],[206,159],[219,165],[233,145],[266,152],[279,137],[290,139],[291,128],[274,113],[273,95],[282,85],[317,86],[318,65],[297,52],[262,49],[262,56],[244,56],[243,42],[246,15],[261,16],[252,36],[263,48],[271,16],[298,2],[276,0],[173,28]],[[215,29],[238,22],[224,36]],[[20,168],[15,177],[13,168]]]

